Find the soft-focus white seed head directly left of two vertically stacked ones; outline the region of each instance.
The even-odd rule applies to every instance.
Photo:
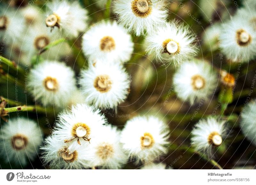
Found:
[[[76,88],[74,72],[64,63],[45,61],[28,75],[29,93],[45,106],[63,107]]]

